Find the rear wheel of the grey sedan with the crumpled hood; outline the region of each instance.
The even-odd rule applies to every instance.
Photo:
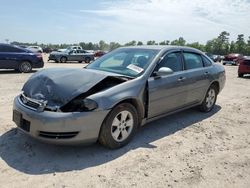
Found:
[[[206,96],[199,106],[200,111],[202,112],[210,112],[216,103],[218,95],[218,88],[215,85],[211,85],[207,90]]]

